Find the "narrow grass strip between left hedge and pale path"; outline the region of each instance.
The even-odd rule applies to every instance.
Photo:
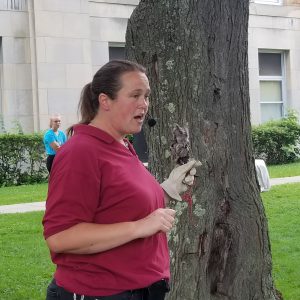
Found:
[[[0,205],[45,201],[47,191],[47,183],[2,187]]]

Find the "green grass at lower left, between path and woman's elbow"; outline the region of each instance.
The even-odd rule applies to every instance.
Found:
[[[0,215],[0,299],[44,300],[54,266],[42,235],[43,212]]]

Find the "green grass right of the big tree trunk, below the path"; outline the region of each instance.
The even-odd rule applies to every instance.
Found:
[[[273,276],[284,300],[300,295],[300,183],[262,193],[272,246]]]

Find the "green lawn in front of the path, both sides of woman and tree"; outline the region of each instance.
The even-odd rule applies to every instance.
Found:
[[[300,183],[262,193],[269,220],[273,276],[285,300],[300,295]],[[42,236],[43,212],[0,215],[0,299],[44,300],[54,272]]]

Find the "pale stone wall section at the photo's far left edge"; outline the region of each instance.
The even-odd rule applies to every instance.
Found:
[[[8,4],[0,1],[0,111],[7,129],[19,120],[25,131],[33,131],[28,13],[11,10]],[[27,8],[26,2],[19,4]]]

